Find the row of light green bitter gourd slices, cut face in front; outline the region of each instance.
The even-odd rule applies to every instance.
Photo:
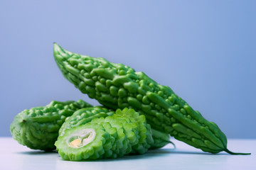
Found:
[[[90,123],[65,129],[55,145],[63,159],[82,161],[144,154],[152,143],[144,115],[124,108],[106,118],[94,118]]]

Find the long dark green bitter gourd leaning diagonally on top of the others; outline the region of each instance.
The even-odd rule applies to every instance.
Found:
[[[147,123],[177,140],[204,152],[233,153],[227,138],[215,123],[203,118],[186,101],[144,72],[103,58],[79,55],[54,43],[54,57],[64,77],[90,98],[108,108],[134,108],[146,116]]]

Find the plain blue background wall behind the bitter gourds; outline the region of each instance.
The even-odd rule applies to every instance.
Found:
[[[25,108],[84,99],[53,42],[170,86],[228,138],[255,138],[256,1],[0,1],[0,136]]]

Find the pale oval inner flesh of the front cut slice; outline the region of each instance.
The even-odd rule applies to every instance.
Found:
[[[66,142],[70,147],[79,148],[92,142],[95,136],[96,132],[94,129],[82,129],[70,135]]]

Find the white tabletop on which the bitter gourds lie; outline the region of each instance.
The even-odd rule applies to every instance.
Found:
[[[0,169],[256,169],[256,140],[228,140],[233,152],[250,152],[251,155],[230,155],[225,152],[208,154],[173,140],[176,149],[167,145],[143,155],[119,159],[102,159],[94,162],[63,161],[57,152],[42,152],[19,145],[11,137],[0,137]]]

